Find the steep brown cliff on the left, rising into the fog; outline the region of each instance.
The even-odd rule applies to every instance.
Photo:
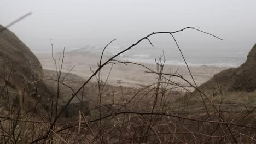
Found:
[[[0,32],[1,110],[9,102],[14,106],[19,105],[20,98],[26,107],[30,107],[35,99],[49,96],[50,91],[43,82],[32,83],[42,78],[42,65],[30,49],[8,29]]]

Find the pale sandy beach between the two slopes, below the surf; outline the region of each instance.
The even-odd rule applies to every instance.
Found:
[[[62,53],[55,53],[54,58],[56,59],[57,67],[59,63],[59,57]],[[56,70],[55,63],[51,53],[36,53],[39,61],[41,62],[43,69],[48,70]],[[60,57],[61,63],[62,56]],[[102,63],[107,60],[107,57],[103,57]],[[71,73],[76,74],[84,79],[88,79],[92,75],[92,71],[95,71],[98,68],[98,63],[100,61],[100,56],[88,55],[86,53],[74,53],[67,52],[65,53],[65,57],[63,60],[62,71],[68,72],[74,67]],[[139,62],[137,62],[139,63]],[[148,64],[148,63],[139,63],[143,64],[146,67],[157,71],[156,64]],[[195,82],[197,85],[201,85],[203,82],[211,79],[211,77],[222,71],[227,69],[228,67],[215,67],[215,66],[189,66],[191,73],[194,76]],[[111,70],[111,71],[110,71]],[[138,87],[140,85],[149,85],[157,82],[157,75],[145,73],[149,71],[148,69],[135,65],[135,64],[108,64],[101,70],[101,78],[105,81],[108,77],[107,83],[110,85],[119,85],[127,87]],[[110,72],[110,74],[109,74]],[[182,75],[185,79],[190,82],[193,82],[187,67],[179,66],[179,65],[165,65],[164,73],[168,74],[178,74]],[[98,76],[98,75],[97,75]],[[180,85],[186,85],[187,83],[182,79],[171,78],[172,81],[179,83]],[[94,78],[93,81],[96,81]]]

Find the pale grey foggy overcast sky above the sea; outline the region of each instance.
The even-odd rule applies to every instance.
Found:
[[[199,26],[224,39],[188,30],[176,34],[183,49],[238,50],[256,43],[256,1],[10,1],[2,0],[0,23],[32,15],[9,29],[34,52],[87,44],[127,46],[144,35]],[[150,38],[156,46],[173,43],[170,35]]]

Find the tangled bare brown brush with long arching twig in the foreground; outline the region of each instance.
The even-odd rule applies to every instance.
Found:
[[[225,107],[223,99],[226,98],[226,95],[222,93],[221,86],[217,89],[220,93],[220,96],[218,95],[220,100],[216,100],[217,96],[202,92],[195,81],[191,83],[176,73],[163,73],[164,57],[156,60],[156,71],[141,64],[115,60],[115,57],[130,50],[142,40],[148,40],[153,46],[149,40],[151,35],[165,33],[171,35],[176,41],[173,34],[186,29],[200,31],[196,27],[187,27],[176,32],[151,33],[103,62],[104,50],[107,49],[110,42],[102,51],[98,69],[92,71],[91,77],[87,80],[61,71],[65,58],[64,52],[59,59],[55,59],[53,55],[56,71],[54,73],[45,71],[49,77],[42,79],[36,77],[37,79],[30,82],[34,86],[34,95],[42,94],[41,91],[38,91],[38,86],[40,82],[45,81],[48,86],[46,89],[49,89],[52,94],[49,97],[40,97],[40,99],[27,97],[33,102],[31,102],[30,109],[23,107],[28,104],[25,94],[21,93],[21,97],[17,100],[18,104],[10,100],[17,96],[9,91],[9,89],[13,89],[8,81],[10,79],[4,79],[4,83],[1,85],[1,98],[6,99],[6,102],[5,107],[1,106],[4,112],[0,117],[0,142],[254,143],[256,132],[254,105],[244,106],[241,104],[243,109],[237,110],[230,109],[230,106]],[[176,44],[182,54],[177,41]],[[182,57],[184,58],[183,55]],[[124,87],[121,80],[118,81],[119,86],[107,85],[108,76],[112,74],[111,70],[109,70],[109,75],[102,75],[101,69],[109,64],[140,65],[146,69],[147,73],[156,75],[157,78],[151,85],[138,88]],[[189,70],[188,65],[187,68]],[[7,75],[10,73],[11,70]],[[96,83],[91,82],[93,77],[96,78]],[[172,81],[172,77],[186,81],[187,85],[175,83]],[[191,79],[193,79],[192,74]],[[16,81],[19,80],[15,79],[14,83]],[[189,103],[184,99],[174,101],[181,96],[176,89],[187,90],[188,87],[195,88],[195,92],[199,94],[196,97],[195,92],[188,91],[191,94],[189,98],[201,102],[199,106],[191,107],[194,102]],[[83,103],[80,103],[78,115],[72,119],[65,119],[63,113],[74,99],[78,102],[88,101],[90,103],[88,110],[83,110]],[[39,104],[43,104],[45,109],[38,111]]]

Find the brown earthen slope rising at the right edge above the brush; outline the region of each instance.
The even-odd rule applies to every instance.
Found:
[[[238,68],[230,68],[214,75],[212,79],[199,86],[208,98],[219,103],[223,95],[226,104],[251,104],[256,98],[256,44],[248,53],[247,61]],[[177,103],[202,104],[202,98],[197,90],[178,99]],[[206,99],[205,99],[206,100]],[[206,100],[207,101],[207,100]]]

